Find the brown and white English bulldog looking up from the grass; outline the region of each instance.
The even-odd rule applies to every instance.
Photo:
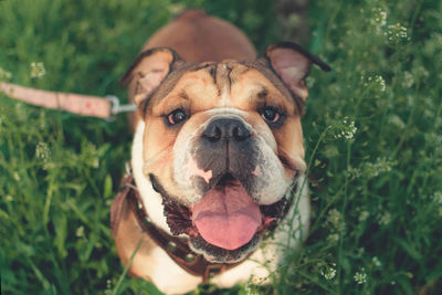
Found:
[[[201,10],[148,40],[122,78],[138,113],[133,177],[112,208],[133,276],[176,294],[208,280],[263,283],[284,263],[308,229],[301,117],[312,64],[329,71],[290,42],[256,59],[239,29]]]

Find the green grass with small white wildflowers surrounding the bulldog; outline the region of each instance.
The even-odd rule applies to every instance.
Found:
[[[235,23],[260,50],[280,38],[264,0],[2,0],[0,78],[125,98],[118,77],[186,7]],[[307,81],[312,230],[271,288],[231,294],[413,294],[441,277],[441,11],[435,0],[312,1],[307,48],[334,69]],[[123,276],[109,234],[130,140],[124,115],[108,123],[0,95],[2,293],[157,294]]]

